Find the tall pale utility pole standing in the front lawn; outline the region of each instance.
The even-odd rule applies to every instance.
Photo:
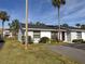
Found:
[[[25,42],[26,50],[27,47],[28,47],[28,0],[26,0],[26,42]]]

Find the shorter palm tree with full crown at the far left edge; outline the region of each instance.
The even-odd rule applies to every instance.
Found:
[[[4,30],[4,22],[9,21],[10,16],[5,11],[0,11],[0,20],[2,21],[2,37],[3,37],[3,30]]]

